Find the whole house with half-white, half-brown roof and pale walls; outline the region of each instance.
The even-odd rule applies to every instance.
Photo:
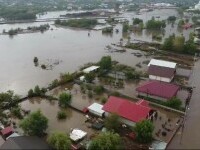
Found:
[[[171,82],[176,73],[176,63],[152,59],[148,64],[149,79]]]

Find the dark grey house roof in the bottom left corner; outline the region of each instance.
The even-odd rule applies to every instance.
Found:
[[[51,149],[49,145],[36,136],[10,137],[0,149]]]

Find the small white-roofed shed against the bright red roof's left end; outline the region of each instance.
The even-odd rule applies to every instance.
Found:
[[[103,105],[98,104],[98,103],[93,103],[92,105],[88,107],[88,110],[90,113],[94,115],[103,117],[105,111],[102,108],[103,108]]]

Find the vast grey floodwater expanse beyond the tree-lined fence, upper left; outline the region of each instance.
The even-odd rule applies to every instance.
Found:
[[[167,12],[164,13],[166,17],[176,13],[175,10],[155,10],[154,13],[161,14],[163,12]],[[47,13],[46,18],[59,17],[62,13],[65,12]],[[148,14],[152,15],[152,13],[148,12],[147,15],[142,14],[136,17],[143,16],[145,18]],[[134,13],[124,13],[122,15],[129,19],[134,17]],[[40,16],[40,18],[42,17],[45,18],[45,15]],[[49,23],[53,30],[44,33],[19,34],[13,37],[0,36],[0,63],[2,64],[0,91],[14,90],[17,94],[25,95],[35,85],[47,86],[52,80],[58,78],[60,73],[74,72],[85,63],[97,62],[104,55],[110,55],[113,60],[132,67],[150,59],[146,57],[137,58],[131,54],[133,50],[127,50],[125,53],[109,53],[105,50],[107,45],[119,43],[120,39],[124,37],[120,24],[115,27],[120,30],[118,34],[114,32],[112,35],[104,35],[101,31],[92,30],[88,37],[88,30],[59,28],[55,27],[53,22],[46,23]],[[0,25],[0,32],[3,29],[27,28],[28,26],[41,24],[45,24],[45,22],[4,24]],[[142,35],[132,34],[131,40],[151,41],[151,35],[146,34],[145,30],[143,32]],[[189,30],[186,32],[189,32]],[[34,66],[34,57],[38,57],[40,65],[49,61],[59,61],[60,63],[52,70],[42,70],[40,67]]]

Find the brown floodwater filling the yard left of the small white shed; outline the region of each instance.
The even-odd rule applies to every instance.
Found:
[[[64,132],[70,133],[71,129],[79,128],[86,131],[88,135],[92,135],[96,131],[88,128],[85,123],[86,117],[84,114],[72,110],[71,108],[63,109],[67,118],[64,120],[57,119],[57,112],[60,111],[58,101],[49,102],[46,99],[34,98],[21,103],[22,109],[31,110],[31,112],[37,111],[38,109],[48,118],[48,129],[47,133],[53,132]]]

